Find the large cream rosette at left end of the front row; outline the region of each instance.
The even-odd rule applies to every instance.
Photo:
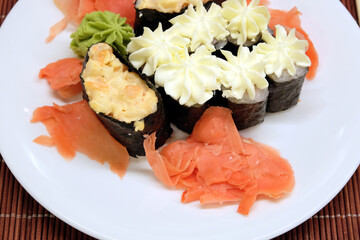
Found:
[[[161,65],[155,72],[155,83],[181,105],[191,107],[204,104],[220,89],[220,73],[218,58],[201,46],[191,55],[184,49],[175,61]]]

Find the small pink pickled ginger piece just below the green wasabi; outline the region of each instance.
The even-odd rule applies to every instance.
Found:
[[[39,78],[46,78],[50,87],[58,90],[63,98],[70,98],[82,91],[80,73],[83,60],[64,58],[40,70]]]

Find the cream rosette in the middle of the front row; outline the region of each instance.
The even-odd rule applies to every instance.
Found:
[[[223,97],[241,100],[245,95],[255,99],[256,88],[267,89],[264,63],[255,52],[247,47],[239,47],[237,56],[229,51],[221,51],[226,60],[219,60],[222,66],[220,78],[223,85]]]

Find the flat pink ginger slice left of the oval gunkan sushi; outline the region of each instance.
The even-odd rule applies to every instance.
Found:
[[[102,125],[88,103],[77,103],[37,108],[31,122],[42,122],[50,136],[40,136],[34,142],[55,145],[65,159],[72,159],[76,151],[110,169],[122,178],[129,164],[126,148],[117,142]]]

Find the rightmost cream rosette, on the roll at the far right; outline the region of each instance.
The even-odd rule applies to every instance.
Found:
[[[287,70],[293,77],[299,71],[299,67],[306,68],[311,65],[310,58],[305,54],[308,42],[299,40],[295,35],[295,29],[287,34],[283,26],[276,25],[276,37],[264,31],[262,39],[265,43],[258,44],[255,51],[263,55],[267,75],[275,74],[280,78]]]

